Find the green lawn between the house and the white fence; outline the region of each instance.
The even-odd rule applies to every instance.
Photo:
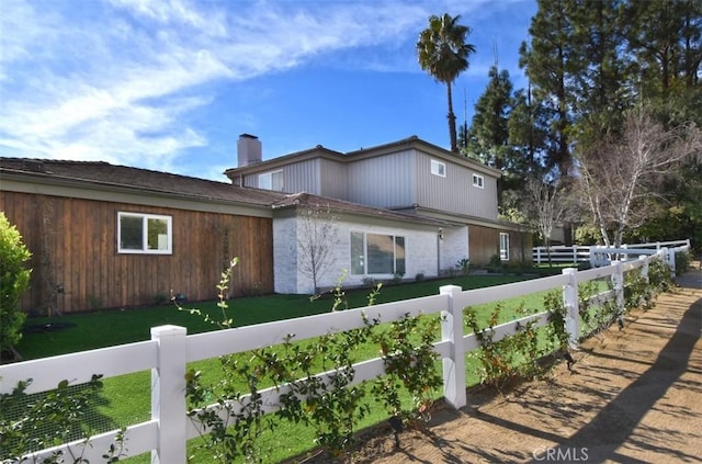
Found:
[[[556,271],[557,272],[557,271]],[[386,303],[399,299],[409,299],[420,296],[437,294],[441,285],[454,284],[464,290],[500,285],[525,280],[523,275],[469,275],[443,280],[423,281],[411,284],[387,285],[381,291],[376,303]],[[367,304],[369,288],[346,291],[347,304],[344,307],[362,307]],[[272,320],[287,319],[314,314],[328,313],[333,297],[331,295],[310,301],[305,295],[267,295],[240,297],[231,302],[228,317],[234,318],[235,326],[246,326]],[[503,302],[503,310],[500,314],[500,322],[518,317],[518,308],[521,306],[537,308],[543,303],[543,293],[526,295],[523,298],[514,298]],[[197,308],[207,313],[213,319],[220,320],[220,309],[216,302],[186,303],[188,308]],[[480,314],[480,321],[486,322],[495,304],[486,304],[476,307]],[[435,317],[435,316],[434,316]],[[188,312],[179,310],[173,305],[158,307],[139,307],[118,310],[101,310],[89,314],[66,315],[58,318],[31,318],[27,325],[45,326],[48,324],[64,322],[71,325],[68,328],[46,331],[27,332],[19,344],[19,351],[26,359],[43,358],[102,348],[107,346],[128,343],[149,339],[149,328],[172,324],[188,328],[189,333],[216,329],[216,326],[207,324],[202,317],[193,316]],[[437,338],[439,333],[437,333]],[[314,341],[302,341],[310,343]],[[358,360],[371,359],[377,355],[377,347],[369,346],[355,353]],[[239,357],[250,354],[241,353]],[[218,360],[204,360],[193,363],[189,367],[203,371],[205,381],[215,382],[222,375]],[[476,360],[467,357],[466,367],[469,375],[468,383],[476,384]],[[124,425],[137,423],[147,420],[150,415],[150,373],[138,372],[104,381],[101,394],[101,403],[95,406],[94,416],[101,429],[113,429]],[[442,392],[435,392],[439,398]],[[378,407],[373,410],[360,425],[360,428],[370,427],[387,419],[387,414]],[[299,425],[290,425],[280,421],[281,428],[276,429],[274,437],[268,437],[263,441],[264,446],[273,448],[271,460],[280,461],[285,457],[305,452],[314,448],[314,433],[310,429]],[[193,440],[189,443],[189,452],[194,453],[192,462],[207,462],[208,459],[202,451],[196,451]],[[269,443],[269,444],[265,444]],[[128,442],[127,442],[128,448]],[[133,463],[147,463],[147,455],[131,459]]]

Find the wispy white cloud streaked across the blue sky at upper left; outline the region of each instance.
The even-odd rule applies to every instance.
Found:
[[[429,1],[2,3],[3,154],[155,168],[208,144],[206,131],[184,116],[208,104],[216,84],[314,59],[340,56],[341,63],[356,47],[396,47],[437,8]],[[360,54],[349,65],[412,66],[397,56]]]

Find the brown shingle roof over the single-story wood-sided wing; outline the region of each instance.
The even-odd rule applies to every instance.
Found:
[[[271,205],[285,197],[285,194],[280,192],[240,188],[225,182],[111,165],[104,161],[0,157],[0,179],[7,174],[259,205]]]

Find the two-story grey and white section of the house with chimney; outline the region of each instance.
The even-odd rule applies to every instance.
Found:
[[[333,265],[317,286],[333,285],[342,269],[347,283],[360,284],[398,274],[437,276],[462,259],[485,264],[531,256],[525,230],[498,219],[500,171],[416,136],[347,154],[317,146],[263,161],[261,142],[242,134],[238,167],[225,174],[237,186],[304,192],[295,203],[299,211],[335,201],[327,206],[337,214]],[[373,213],[362,214],[361,206]],[[275,291],[308,292],[314,286],[302,272],[299,247],[309,231],[301,229],[298,214],[274,217]]]

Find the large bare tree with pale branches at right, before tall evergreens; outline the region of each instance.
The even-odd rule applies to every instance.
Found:
[[[665,129],[637,106],[627,112],[618,138],[581,154],[581,192],[605,246],[621,247],[627,228],[655,214],[648,200],[665,196],[663,181],[678,172],[681,161],[700,156],[700,140],[693,124]]]

